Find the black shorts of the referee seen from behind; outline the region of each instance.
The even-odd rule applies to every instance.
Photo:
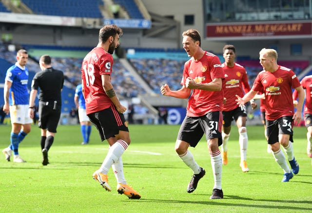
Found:
[[[53,109],[54,102],[49,101],[39,101],[39,122],[38,126],[41,129],[48,130],[51,133],[57,132],[57,127],[59,124],[61,106],[58,105],[57,109]]]

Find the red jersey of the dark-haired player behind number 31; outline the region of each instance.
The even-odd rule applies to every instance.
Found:
[[[226,103],[223,105],[223,111],[231,111],[238,107],[235,95],[243,97],[250,91],[247,72],[245,68],[237,63],[234,67],[228,67],[226,63],[222,64],[225,79],[222,82],[224,97]]]

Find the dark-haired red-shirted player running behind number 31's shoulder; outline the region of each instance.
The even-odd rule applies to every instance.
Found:
[[[238,128],[238,143],[240,150],[240,164],[243,172],[248,172],[248,166],[246,162],[248,135],[246,128],[247,113],[244,105],[237,106],[236,97],[244,96],[245,93],[250,91],[248,83],[247,72],[245,68],[238,63],[234,62],[236,56],[236,49],[234,45],[227,44],[223,47],[223,58],[225,62],[222,64],[225,79],[222,86],[224,91],[224,104],[223,104],[223,131],[222,131],[222,161],[224,165],[228,163],[228,147],[227,143],[230,137],[231,124],[233,119],[236,122]],[[253,109],[257,107],[254,99],[250,101]]]

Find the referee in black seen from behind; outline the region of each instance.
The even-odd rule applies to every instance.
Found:
[[[29,98],[29,116],[31,118],[34,117],[35,99],[38,88],[40,88],[38,126],[41,129],[42,165],[46,166],[49,163],[48,151],[54,141],[59,123],[64,75],[62,71],[52,68],[51,57],[48,55],[40,57],[39,65],[42,71],[36,73],[32,81]]]

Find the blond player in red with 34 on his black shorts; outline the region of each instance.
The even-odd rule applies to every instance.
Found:
[[[267,126],[267,141],[276,163],[284,171],[282,182],[288,182],[293,174],[298,174],[299,165],[295,160],[292,145],[292,125],[300,123],[301,109],[304,100],[304,90],[299,79],[291,69],[277,64],[277,52],[274,49],[263,48],[259,52],[260,64],[263,67],[254,80],[254,86],[244,97],[236,95],[237,104],[244,105],[257,92],[265,91],[265,119]],[[294,112],[292,88],[298,92],[297,111]],[[282,145],[285,155],[280,149]],[[293,173],[293,174],[292,174]]]

